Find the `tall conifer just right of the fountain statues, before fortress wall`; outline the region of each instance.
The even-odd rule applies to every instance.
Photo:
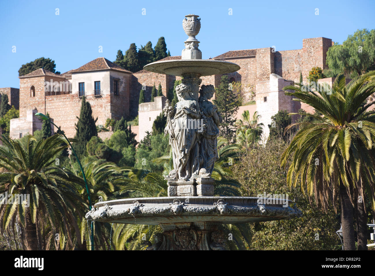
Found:
[[[228,84],[228,76],[223,75],[219,87],[216,88],[216,100],[213,100],[213,103],[217,106],[223,120],[219,126],[220,135],[231,142],[236,135],[234,124],[236,122],[240,99],[232,90],[229,90]]]

